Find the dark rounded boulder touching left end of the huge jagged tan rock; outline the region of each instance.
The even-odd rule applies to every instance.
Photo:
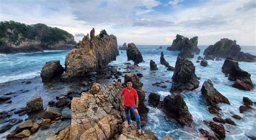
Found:
[[[59,78],[64,72],[64,68],[60,65],[59,60],[46,62],[41,70],[41,78],[43,82],[48,82]]]

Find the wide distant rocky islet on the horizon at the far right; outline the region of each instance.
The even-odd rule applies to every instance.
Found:
[[[241,47],[237,45],[237,41],[230,40],[227,38],[220,39],[214,45],[208,46],[205,51],[204,55],[213,56],[213,57],[220,57],[226,58],[231,57],[236,61],[245,61],[245,62],[255,62],[256,56],[251,55],[250,53],[240,52]]]

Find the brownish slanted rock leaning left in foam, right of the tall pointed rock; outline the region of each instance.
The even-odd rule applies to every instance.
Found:
[[[212,114],[218,114],[218,111],[221,110],[217,106],[218,103],[230,104],[228,99],[213,87],[213,83],[210,79],[203,83],[201,94],[204,96],[206,103],[211,106],[208,108],[208,111]]]

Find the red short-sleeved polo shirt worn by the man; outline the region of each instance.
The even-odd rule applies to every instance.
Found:
[[[126,88],[124,88],[121,92],[121,96],[124,95],[124,105],[127,107],[135,106],[134,99],[138,97],[138,93],[136,89],[132,88],[131,91]]]

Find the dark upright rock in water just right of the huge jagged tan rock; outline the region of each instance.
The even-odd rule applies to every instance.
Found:
[[[133,43],[128,44],[126,54],[127,54],[127,60],[128,61],[133,60],[134,65],[137,65],[140,62],[143,62],[142,54],[140,53],[136,45]]]

